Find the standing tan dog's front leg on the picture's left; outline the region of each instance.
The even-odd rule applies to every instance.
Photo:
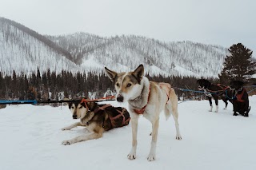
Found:
[[[132,113],[131,117],[131,129],[132,129],[132,147],[130,149],[130,153],[128,154],[128,159],[134,160],[136,158],[136,149],[137,149],[137,132],[138,132],[138,115],[136,113]]]

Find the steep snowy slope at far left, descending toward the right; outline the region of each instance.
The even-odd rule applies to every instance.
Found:
[[[57,72],[78,69],[78,65],[70,60],[71,55],[62,47],[5,18],[0,18],[0,46],[2,73],[11,74],[14,69],[17,73],[30,73],[37,67]]]

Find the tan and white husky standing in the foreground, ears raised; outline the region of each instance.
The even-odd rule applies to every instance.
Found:
[[[143,114],[152,123],[152,140],[150,154],[147,160],[156,158],[156,144],[158,138],[159,114],[164,110],[166,120],[172,113],[176,126],[176,139],[182,140],[178,127],[178,98],[174,89],[167,83],[149,81],[144,76],[144,67],[139,65],[134,72],[116,73],[105,67],[110,80],[114,82],[118,102],[128,101],[132,126],[132,148],[128,154],[130,160],[136,158],[138,117]]]

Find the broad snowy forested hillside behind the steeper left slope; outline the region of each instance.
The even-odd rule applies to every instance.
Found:
[[[150,75],[217,77],[227,54],[227,49],[218,45],[159,42],[134,35],[100,38],[77,33],[49,38],[70,51],[77,64],[88,66],[88,61],[93,58],[99,65],[123,71],[142,63]]]

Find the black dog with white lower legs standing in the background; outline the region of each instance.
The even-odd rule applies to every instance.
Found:
[[[213,110],[213,105],[211,98],[214,98],[216,110],[215,112],[218,113],[218,97],[222,98],[222,101],[225,102],[226,106],[228,105],[227,101],[230,101],[232,103],[232,100],[228,96],[232,96],[229,87],[225,85],[214,85],[211,84],[210,81],[207,81],[206,79],[199,79],[197,81],[198,83],[198,89],[203,90],[206,94],[206,97],[208,98],[210,102],[210,112]],[[225,109],[226,109],[225,106]]]

